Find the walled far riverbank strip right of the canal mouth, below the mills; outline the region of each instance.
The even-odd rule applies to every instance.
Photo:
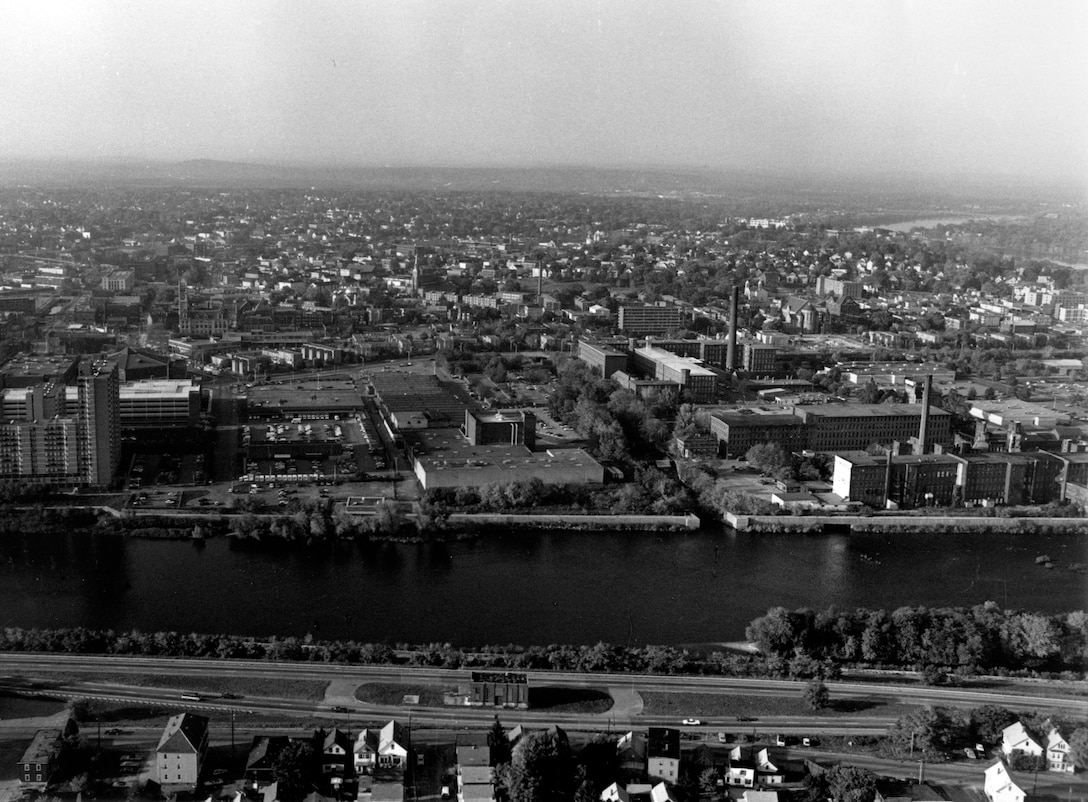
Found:
[[[1004,534],[1088,534],[1084,518],[982,518],[965,516],[861,516],[861,515],[735,515],[727,513],[727,526],[738,532],[819,534],[824,532],[881,534],[956,534],[1001,532]]]

